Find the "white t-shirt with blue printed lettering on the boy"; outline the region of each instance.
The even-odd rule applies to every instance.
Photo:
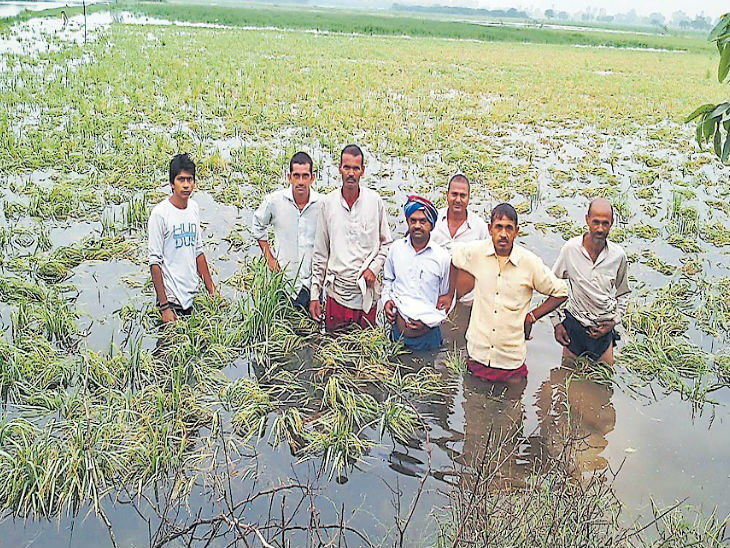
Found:
[[[169,199],[160,202],[152,209],[148,233],[149,263],[160,265],[167,299],[190,308],[198,292],[196,259],[203,253],[198,204],[188,200],[178,209]]]

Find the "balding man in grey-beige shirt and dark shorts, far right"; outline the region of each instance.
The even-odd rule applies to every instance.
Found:
[[[588,206],[588,232],[568,240],[560,250],[553,272],[570,286],[565,310],[551,318],[555,340],[563,356],[588,356],[613,364],[613,347],[619,339],[616,325],[626,313],[629,297],[628,261],[623,248],[608,241],[613,226],[613,206],[596,198]]]

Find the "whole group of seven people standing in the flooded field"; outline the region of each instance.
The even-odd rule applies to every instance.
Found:
[[[525,377],[526,341],[546,315],[564,356],[613,363],[615,327],[629,288],[626,254],[608,240],[614,216],[607,200],[591,202],[586,233],[569,240],[550,269],[515,242],[519,222],[511,205],[497,205],[489,223],[468,210],[464,175],[449,181],[443,209],[408,196],[407,233],[393,240],[382,199],[360,182],[365,158],[357,145],[342,150],[339,172],[341,187],[321,195],[312,189],[312,158],[297,152],[289,162],[290,186],[266,196],[252,220],[269,269],[285,271],[294,305],[327,331],[375,325],[380,302],[393,338],[414,350],[434,350],[441,345],[439,326],[458,300],[471,306],[467,365],[476,377]],[[172,196],[149,221],[150,268],[163,321],[190,313],[198,277],[216,291],[198,207],[190,200],[194,163],[175,156],[169,177]],[[535,291],[547,298],[531,308]]]

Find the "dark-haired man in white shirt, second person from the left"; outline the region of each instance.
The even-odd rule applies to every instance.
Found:
[[[312,158],[297,152],[289,161],[289,188],[272,192],[261,202],[251,221],[254,238],[272,272],[282,268],[294,284],[294,305],[309,307],[312,249],[319,219],[320,195],[312,190]],[[269,244],[274,229],[275,250]]]

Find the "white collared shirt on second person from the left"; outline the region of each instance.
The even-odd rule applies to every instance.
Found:
[[[310,189],[309,201],[300,211],[291,187],[283,188],[266,196],[251,220],[251,231],[257,240],[268,240],[269,227],[273,227],[272,253],[289,279],[295,280],[296,293],[311,282],[320,200],[321,195]]]

